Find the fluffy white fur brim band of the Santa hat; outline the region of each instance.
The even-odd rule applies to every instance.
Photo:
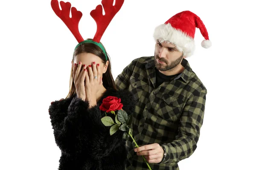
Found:
[[[154,31],[154,39],[160,42],[169,41],[176,45],[180,52],[183,52],[184,57],[190,57],[195,51],[195,42],[192,37],[186,33],[177,30],[171,24],[161,24]]]

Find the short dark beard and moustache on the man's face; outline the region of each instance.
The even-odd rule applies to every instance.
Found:
[[[171,64],[167,64],[165,67],[163,67],[161,64],[159,64],[157,62],[157,59],[161,62],[165,62],[166,64],[168,63],[168,61],[165,59],[165,58],[159,58],[159,55],[155,55],[155,59],[154,59],[154,62],[155,62],[155,66],[157,68],[157,70],[159,71],[168,71],[168,70],[171,70],[173,68],[175,68],[177,65],[180,64],[181,60],[183,59],[183,54],[177,58],[175,61],[171,62]]]

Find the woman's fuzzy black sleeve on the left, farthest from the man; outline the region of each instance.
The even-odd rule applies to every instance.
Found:
[[[68,155],[91,150],[91,129],[97,129],[101,124],[100,111],[96,109],[88,113],[88,106],[88,102],[74,96],[72,99],[56,101],[49,108],[55,142]]]

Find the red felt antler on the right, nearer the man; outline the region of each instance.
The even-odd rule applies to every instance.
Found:
[[[116,0],[115,5],[113,6],[113,1],[114,0],[102,0],[102,6],[104,7],[105,15],[102,14],[101,5],[96,6],[96,8],[90,12],[90,15],[93,17],[97,24],[97,31],[93,38],[93,41],[95,42],[100,41],[109,23],[124,3],[124,0]]]

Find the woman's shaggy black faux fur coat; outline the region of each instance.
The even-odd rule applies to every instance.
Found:
[[[121,99],[128,115],[134,112],[135,99],[129,91],[108,89],[96,106],[73,96],[52,102],[49,115],[55,142],[61,150],[59,170],[124,170],[127,158],[123,131],[112,136],[110,127],[102,124],[105,112],[99,110],[107,96]],[[116,111],[117,113],[117,111]],[[114,115],[108,113],[114,118]]]

